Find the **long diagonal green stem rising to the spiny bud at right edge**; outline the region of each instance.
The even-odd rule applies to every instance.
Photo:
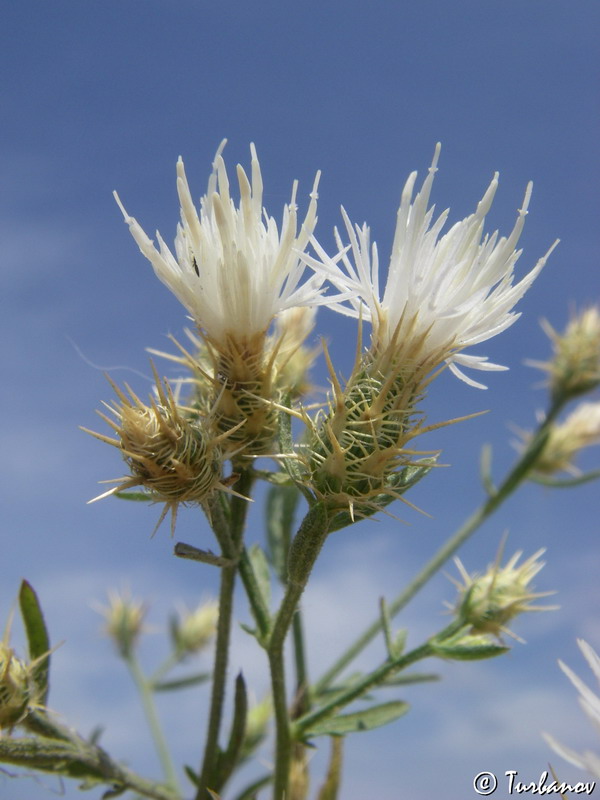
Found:
[[[451,558],[479,526],[515,491],[527,478],[539,458],[551,424],[565,405],[564,398],[553,402],[543,423],[532,437],[529,446],[505,477],[495,493],[491,494],[481,506],[464,522],[456,533],[448,539],[404,591],[389,605],[390,617],[403,609],[429,581],[429,579]],[[364,633],[337,659],[333,666],[315,685],[318,694],[331,685],[332,681],[344,670],[356,656],[375,638],[382,628],[381,617],[378,617]]]

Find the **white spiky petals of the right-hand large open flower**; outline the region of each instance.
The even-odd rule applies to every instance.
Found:
[[[459,365],[480,370],[505,367],[488,362],[485,356],[466,355],[463,350],[490,339],[515,322],[519,314],[512,308],[557,242],[528,275],[513,285],[514,266],[521,254],[515,248],[525,222],[531,184],[527,186],[523,207],[510,235],[499,238],[497,231],[491,236],[483,235],[485,216],[498,186],[497,173],[475,213],[442,236],[448,210],[434,221],[434,207],[427,207],[439,152],[438,144],[429,174],[414,200],[416,172],[409,176],[402,192],[383,296],[377,245],[370,244],[367,225],[353,226],[343,208],[350,246],[344,248],[336,230],[341,251],[338,256],[328,257],[318,242],[313,241],[321,261],[305,255],[303,258],[313,269],[326,272],[338,288],[357,293],[350,298],[349,305],[339,302],[330,305],[343,314],[370,320],[374,349],[381,351],[391,345],[398,359],[411,364],[430,363],[433,367],[446,361],[462,380],[485,388],[464,375]]]

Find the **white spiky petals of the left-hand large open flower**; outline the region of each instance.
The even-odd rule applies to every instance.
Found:
[[[296,190],[284,207],[281,233],[262,207],[263,184],[254,145],[250,145],[250,183],[237,167],[240,203],[229,194],[229,180],[221,156],[225,140],[213,162],[200,213],[190,194],[183,161],[177,162],[177,192],[181,223],[177,227],[175,253],[157,232],[159,248],[138,222],[125,211],[115,193],[125,222],[140,250],[151,261],[160,280],[186,307],[197,325],[217,345],[228,339],[241,343],[264,335],[276,314],[293,307],[322,302],[324,277],[313,275],[301,284],[305,266],[299,252],[307,246],[316,224],[315,178],[306,218],[297,233]]]

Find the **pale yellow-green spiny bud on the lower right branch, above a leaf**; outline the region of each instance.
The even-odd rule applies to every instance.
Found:
[[[464,581],[452,579],[458,588],[458,599],[454,606],[455,614],[465,625],[471,626],[475,634],[493,634],[500,637],[509,634],[519,640],[506,625],[519,614],[526,611],[552,611],[557,606],[537,606],[531,601],[547,597],[553,592],[532,592],[529,584],[544,567],[539,557],[544,550],[538,550],[530,558],[517,566],[522,551],[514,554],[504,567],[499,558],[491,564],[483,575],[469,575],[460,559],[454,562]]]

